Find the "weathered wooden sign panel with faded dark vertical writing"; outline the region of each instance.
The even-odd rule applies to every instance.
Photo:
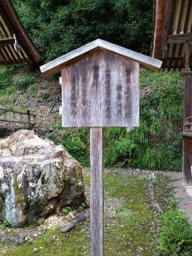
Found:
[[[101,50],[66,66],[62,126],[139,126],[139,63]]]

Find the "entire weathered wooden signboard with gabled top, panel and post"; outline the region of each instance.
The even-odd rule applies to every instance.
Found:
[[[161,61],[97,39],[44,66],[62,70],[62,126],[90,127],[91,255],[103,255],[102,127],[139,126],[139,67],[157,72]]]

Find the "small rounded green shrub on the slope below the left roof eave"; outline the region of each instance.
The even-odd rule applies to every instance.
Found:
[[[13,78],[13,85],[19,90],[26,90],[30,85],[34,84],[36,79],[31,75],[18,75]]]

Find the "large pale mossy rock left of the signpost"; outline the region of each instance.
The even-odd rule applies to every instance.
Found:
[[[62,146],[19,130],[0,142],[0,219],[13,226],[41,222],[84,200],[82,168]]]

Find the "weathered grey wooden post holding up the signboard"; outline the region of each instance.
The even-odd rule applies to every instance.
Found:
[[[103,129],[90,128],[91,255],[103,256]]]

